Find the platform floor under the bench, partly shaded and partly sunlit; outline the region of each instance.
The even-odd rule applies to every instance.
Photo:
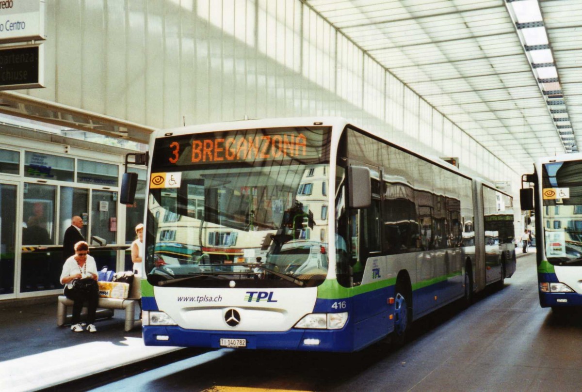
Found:
[[[56,326],[56,297],[47,304],[2,309],[0,391],[35,391],[156,357],[175,347],[145,347],[141,328],[125,332],[125,313],[98,320],[97,333]]]

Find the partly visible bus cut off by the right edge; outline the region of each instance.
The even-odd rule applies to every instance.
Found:
[[[554,311],[580,306],[582,154],[539,159],[524,177],[534,184],[521,190],[521,208],[535,211],[540,305]]]

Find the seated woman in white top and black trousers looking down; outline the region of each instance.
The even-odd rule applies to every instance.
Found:
[[[61,273],[61,283],[66,285],[65,296],[69,300],[73,300],[71,330],[73,332],[83,331],[83,327],[80,324],[81,310],[83,309],[83,302],[87,301],[87,331],[97,332],[97,328],[93,325],[95,312],[97,312],[97,303],[99,302],[97,265],[95,265],[95,259],[88,255],[89,245],[85,241],[79,241],[74,244],[74,251],[75,254],[66,259]],[[73,286],[75,280],[86,278],[93,279],[95,284],[88,284],[88,287],[83,290]]]

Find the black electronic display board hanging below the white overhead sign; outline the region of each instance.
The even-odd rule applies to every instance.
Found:
[[[44,87],[41,45],[0,48],[0,90]]]

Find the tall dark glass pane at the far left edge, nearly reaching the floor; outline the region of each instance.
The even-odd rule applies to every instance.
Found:
[[[0,294],[14,293],[16,186],[0,184]]]

